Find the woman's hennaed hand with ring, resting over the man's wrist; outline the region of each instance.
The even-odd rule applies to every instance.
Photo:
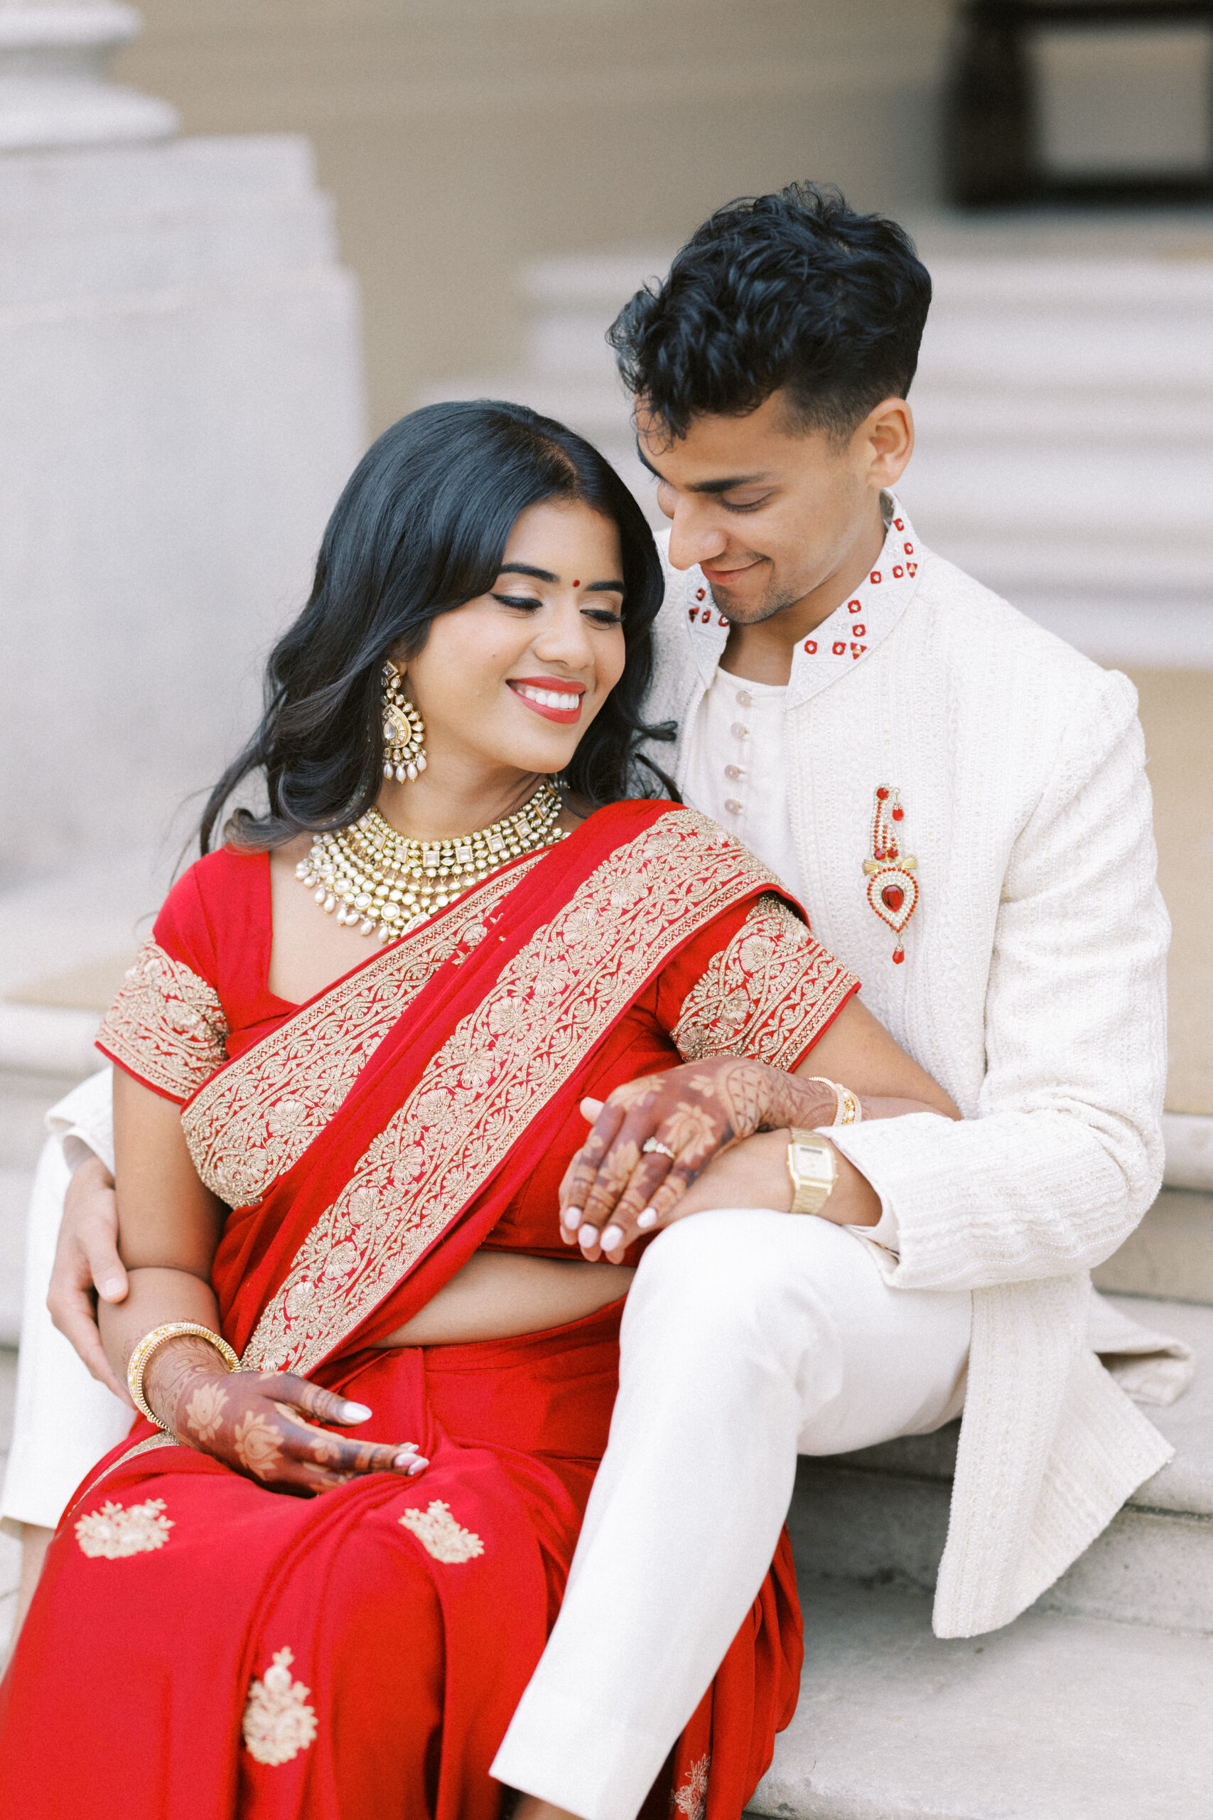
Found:
[[[669,1216],[713,1158],[782,1125],[827,1125],[835,1094],[762,1061],[713,1056],[582,1101],[595,1125],[560,1183],[566,1245],[618,1263],[637,1232]],[[591,1110],[593,1108],[593,1110]],[[647,1150],[655,1139],[664,1148]]]

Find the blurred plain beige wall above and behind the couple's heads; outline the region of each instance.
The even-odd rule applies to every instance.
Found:
[[[947,0],[140,0],[115,75],[302,131],[364,286],[371,420],[509,371],[522,260],[677,244],[797,177],[937,200]]]

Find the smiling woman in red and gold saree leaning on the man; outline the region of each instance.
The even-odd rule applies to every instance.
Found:
[[[947,1107],[744,848],[627,799],[658,604],[622,482],[516,406],[416,411],[342,495],[102,1028],[145,1420],[47,1552],[0,1815],[489,1820],[607,1438],[604,1221],[827,1123],[815,1045],[867,1116]],[[737,1820],[798,1663],[784,1538],[653,1811],[709,1753]]]

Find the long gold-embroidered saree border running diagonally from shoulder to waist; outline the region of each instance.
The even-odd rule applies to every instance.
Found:
[[[242,1363],[318,1365],[475,1199],[664,959],[777,883],[695,810],[609,854],[431,1057],[296,1252]]]

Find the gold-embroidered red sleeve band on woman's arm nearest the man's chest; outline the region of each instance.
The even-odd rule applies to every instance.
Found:
[[[795,1067],[857,986],[797,912],[764,894],[687,992],[675,1045],[686,1061],[751,1056]]]

